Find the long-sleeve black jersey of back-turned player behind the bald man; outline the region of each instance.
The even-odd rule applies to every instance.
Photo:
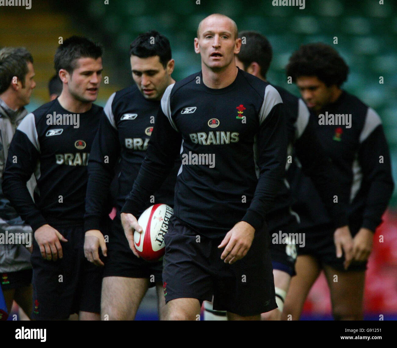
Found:
[[[347,225],[346,207],[339,202],[334,202],[334,196],[339,196],[339,184],[335,179],[331,160],[322,148],[313,125],[313,116],[304,104],[303,100],[297,98],[287,90],[274,86],[281,96],[285,105],[287,134],[288,134],[288,159],[285,167],[288,177],[291,163],[299,159],[302,170],[314,184],[319,193],[319,199],[331,216],[333,225],[341,227]],[[292,170],[294,165],[292,165]],[[295,173],[296,175],[296,173]],[[285,208],[293,205],[290,185],[285,179],[285,185],[279,190],[274,202],[274,207],[268,213],[269,230],[275,230],[288,220],[288,214],[283,213]],[[294,212],[295,213],[295,212]]]

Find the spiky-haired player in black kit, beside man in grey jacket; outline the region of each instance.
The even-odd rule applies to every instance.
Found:
[[[61,95],[29,113],[8,152],[3,191],[34,231],[33,313],[36,320],[100,318],[102,269],[83,252],[87,162],[102,108],[93,104],[102,78],[102,48],[71,37],[56,50]],[[35,173],[40,196],[26,182]]]

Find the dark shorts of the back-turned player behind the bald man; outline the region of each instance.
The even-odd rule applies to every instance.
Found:
[[[275,226],[269,230],[270,258],[272,259],[273,269],[288,273],[292,277],[296,274],[295,262],[297,249],[299,248],[299,239],[296,235],[298,223],[295,216],[289,213],[289,210],[286,211],[286,214],[288,216],[282,220],[284,221],[283,225]],[[271,219],[274,219],[274,217],[271,217]],[[269,227],[272,226],[271,222]]]

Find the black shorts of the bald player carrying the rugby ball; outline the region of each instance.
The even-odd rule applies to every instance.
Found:
[[[198,235],[172,216],[165,236],[164,295],[166,302],[176,298],[211,301],[214,310],[241,316],[257,315],[277,308],[269,235],[255,233],[247,255],[232,265],[221,260],[218,249],[223,238]]]

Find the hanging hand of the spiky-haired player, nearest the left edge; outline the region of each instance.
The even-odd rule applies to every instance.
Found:
[[[67,239],[56,229],[48,224],[42,225],[35,231],[35,239],[43,259],[54,261],[58,258],[62,259],[62,246],[59,241],[67,242]]]

